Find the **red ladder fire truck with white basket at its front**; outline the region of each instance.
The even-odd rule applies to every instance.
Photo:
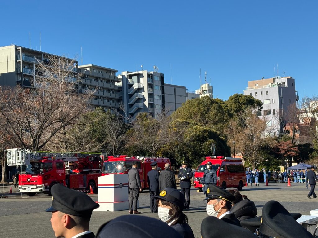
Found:
[[[19,192],[28,196],[37,193],[51,195],[54,184],[71,189],[96,191],[103,161],[100,154],[58,153],[27,149],[7,149],[7,164],[20,166]]]

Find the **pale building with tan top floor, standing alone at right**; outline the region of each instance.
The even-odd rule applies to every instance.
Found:
[[[257,115],[267,123],[265,136],[284,133],[289,122],[289,111],[296,109],[299,100],[293,77],[280,77],[248,81],[244,95],[253,96],[263,102],[263,110]]]

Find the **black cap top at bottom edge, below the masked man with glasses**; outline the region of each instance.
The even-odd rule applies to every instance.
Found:
[[[203,238],[257,238],[249,230],[222,221],[216,217],[208,216],[201,223],[201,235]]]

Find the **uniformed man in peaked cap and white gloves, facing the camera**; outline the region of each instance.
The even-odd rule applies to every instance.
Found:
[[[183,196],[185,197],[184,207],[189,209],[190,206],[190,189],[191,189],[191,178],[192,169],[187,168],[188,162],[182,162],[182,169],[180,169],[178,178],[180,179],[180,188]]]

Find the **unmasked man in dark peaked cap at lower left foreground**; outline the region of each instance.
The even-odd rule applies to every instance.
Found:
[[[55,184],[51,188],[52,206],[46,212],[52,212],[51,225],[56,237],[94,238],[89,231],[89,220],[99,204],[89,196],[76,190]]]

